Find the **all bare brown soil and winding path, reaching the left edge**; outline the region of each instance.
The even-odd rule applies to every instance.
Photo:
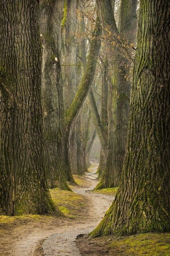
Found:
[[[50,217],[44,218],[41,223],[18,219],[14,224],[3,225],[0,233],[0,256],[81,255],[75,243],[77,235],[92,231],[114,199],[113,196],[90,193],[98,183],[95,171],[84,176],[88,187],[72,188],[86,199],[86,207],[82,208],[79,218]]]

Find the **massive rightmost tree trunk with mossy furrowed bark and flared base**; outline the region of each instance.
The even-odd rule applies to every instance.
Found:
[[[169,13],[168,0],[141,0],[121,186],[91,237],[170,231]]]

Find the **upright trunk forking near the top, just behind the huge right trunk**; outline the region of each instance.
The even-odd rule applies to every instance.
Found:
[[[114,55],[113,59],[110,59],[108,154],[104,174],[96,189],[117,187],[121,178],[126,152],[131,91],[130,68],[132,66],[132,49],[129,48],[127,50],[123,47],[123,44],[125,44],[125,41],[128,41],[130,45],[135,41],[137,0],[122,0],[120,33],[115,24],[111,1],[107,0],[104,2],[99,0],[99,9],[103,20],[103,27],[107,28],[110,26],[110,39],[114,40],[114,35],[116,35],[116,44],[113,46],[109,43],[108,45],[108,49]],[[108,36],[108,33],[105,32],[105,35]]]

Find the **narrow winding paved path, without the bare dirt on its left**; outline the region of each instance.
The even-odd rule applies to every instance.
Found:
[[[95,180],[96,178],[97,175],[95,173],[88,173],[86,174],[86,179],[91,181],[91,187],[74,189],[75,193],[84,195],[90,201],[89,217],[81,223],[64,226],[59,232],[49,236],[43,243],[44,255],[81,256],[79,249],[75,245],[75,238],[78,234],[89,233],[95,228],[114,198],[102,194],[89,193],[89,190],[92,190],[98,183]]]

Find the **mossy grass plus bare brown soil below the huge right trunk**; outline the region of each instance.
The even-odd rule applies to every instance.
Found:
[[[81,241],[78,240],[77,246],[80,248],[82,256],[169,256],[170,233],[84,238]]]

